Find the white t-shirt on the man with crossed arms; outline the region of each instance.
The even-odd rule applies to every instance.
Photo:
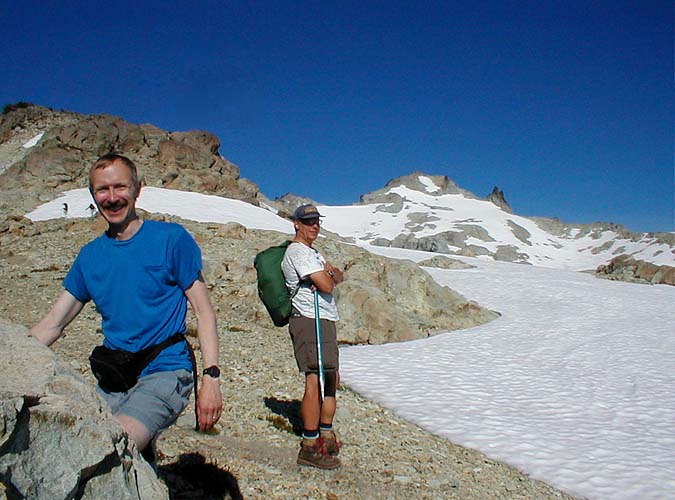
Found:
[[[302,243],[291,243],[286,249],[281,270],[286,278],[286,287],[293,293],[301,280],[309,280],[309,275],[323,271],[326,259],[313,248]],[[293,306],[306,318],[314,318],[314,292],[309,283],[303,283],[293,297]],[[319,292],[319,317],[338,321],[337,304],[332,293]]]

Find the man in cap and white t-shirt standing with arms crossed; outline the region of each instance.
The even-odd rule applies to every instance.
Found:
[[[300,407],[304,429],[297,462],[335,469],[340,466],[337,458],[340,443],[333,430],[340,375],[335,328],[339,317],[332,292],[342,281],[342,271],[312,248],[319,236],[319,217],[322,215],[313,205],[302,205],[295,210],[292,217],[295,239],[286,250],[281,269],[288,290],[294,293],[288,330],[298,369],[305,374],[305,393]],[[320,322],[316,321],[315,311]],[[317,330],[321,332],[320,351],[317,350]],[[322,388],[320,379],[324,373],[325,387]]]

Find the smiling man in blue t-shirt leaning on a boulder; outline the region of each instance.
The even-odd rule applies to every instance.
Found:
[[[182,226],[138,218],[141,182],[128,158],[99,158],[89,172],[89,190],[108,230],[80,250],[65,290],[31,334],[51,345],[94,301],[105,337],[89,358],[98,393],[153,462],[155,437],[180,415],[194,385],[185,339],[188,302],[208,367],[195,404],[200,430],[211,429],[221,415],[218,334],[201,251]]]

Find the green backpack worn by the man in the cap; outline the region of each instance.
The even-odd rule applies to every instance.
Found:
[[[291,294],[286,288],[284,273],[281,271],[281,261],[284,260],[286,248],[290,241],[281,245],[269,247],[258,253],[253,260],[253,266],[258,273],[258,296],[270,314],[274,326],[288,324],[291,316]]]

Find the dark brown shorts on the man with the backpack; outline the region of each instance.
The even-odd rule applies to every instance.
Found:
[[[288,321],[288,331],[293,341],[295,362],[302,373],[317,373],[319,362],[316,352],[316,330],[314,318],[305,318],[295,309]],[[321,320],[321,355],[323,368],[327,372],[336,372],[340,368],[337,348],[335,321]]]

